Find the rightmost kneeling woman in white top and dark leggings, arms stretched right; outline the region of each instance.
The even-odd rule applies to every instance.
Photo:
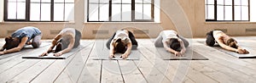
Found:
[[[211,47],[215,44],[215,42],[217,42],[220,47],[223,47],[226,50],[241,54],[249,53],[246,49],[239,47],[235,39],[231,38],[230,36],[227,36],[221,30],[212,30],[208,32],[206,42],[207,45]]]

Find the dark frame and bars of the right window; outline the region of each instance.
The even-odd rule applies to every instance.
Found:
[[[208,0],[205,0],[205,2],[207,2]],[[248,19],[247,20],[235,20],[235,1],[234,0],[232,0],[232,20],[218,20],[217,18],[218,18],[218,13],[217,13],[217,11],[218,11],[218,4],[217,4],[217,0],[214,0],[214,19],[207,19],[207,12],[209,11],[208,10],[208,6],[207,5],[209,5],[209,4],[207,4],[207,3],[205,3],[205,19],[206,19],[206,21],[250,21],[250,0],[247,0],[247,2],[248,2],[248,4],[247,4],[247,6],[248,6]],[[226,6],[225,4],[224,4],[224,6]],[[240,5],[240,6],[242,6],[242,5]]]

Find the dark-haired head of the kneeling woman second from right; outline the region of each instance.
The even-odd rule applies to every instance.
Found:
[[[180,51],[180,43],[177,41],[176,38],[170,39],[170,47],[175,51]]]

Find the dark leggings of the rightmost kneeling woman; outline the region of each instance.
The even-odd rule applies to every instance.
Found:
[[[213,46],[215,44],[215,39],[213,37],[213,31],[207,33],[207,46]]]

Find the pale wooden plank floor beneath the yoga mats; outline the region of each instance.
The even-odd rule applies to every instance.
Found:
[[[235,37],[241,46],[256,51],[256,37]],[[94,60],[98,40],[83,40],[84,47],[69,53],[67,59],[24,59],[22,55],[43,53],[49,44],[37,49],[0,56],[0,83],[217,83],[256,82],[256,58],[235,58],[189,39],[195,52],[209,60],[162,60],[156,56],[153,41],[138,39],[139,60]],[[4,40],[0,39],[0,47]],[[102,40],[101,40],[102,41]],[[101,43],[100,43],[101,44]],[[108,56],[108,54],[106,54]]]

